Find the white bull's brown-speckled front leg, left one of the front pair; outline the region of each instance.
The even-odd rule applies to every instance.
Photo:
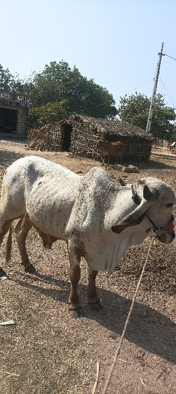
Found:
[[[71,290],[69,296],[69,312],[73,318],[78,318],[82,315],[81,305],[79,302],[79,296],[77,293],[77,286],[81,277],[80,261],[81,261],[81,250],[79,246],[76,246],[72,241],[68,242],[68,256],[70,262],[70,281]]]

